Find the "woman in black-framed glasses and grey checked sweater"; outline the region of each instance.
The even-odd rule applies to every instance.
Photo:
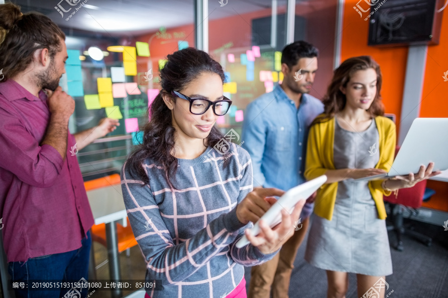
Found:
[[[243,266],[275,255],[293,234],[302,206],[283,213],[274,229],[261,224],[260,235],[246,233],[251,244],[236,248],[249,222],[275,202],[270,196],[283,191],[252,191],[249,154],[214,126],[231,105],[218,62],[183,49],[168,55],[160,77],[143,144],[121,172],[129,221],[146,261],[146,297],[245,298]]]

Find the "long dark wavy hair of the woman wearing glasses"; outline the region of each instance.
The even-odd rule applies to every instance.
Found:
[[[151,120],[143,127],[143,144],[138,145],[130,154],[126,167],[132,177],[140,178],[147,184],[149,177],[143,168],[143,162],[149,158],[165,170],[168,184],[171,188],[176,188],[173,177],[176,175],[178,162],[172,155],[176,129],[172,125],[171,110],[163,101],[162,93],[171,94],[173,90],[182,90],[204,73],[218,74],[224,83],[224,71],[209,54],[195,48],[174,52],[167,56],[167,60],[160,71],[162,90],[149,107]],[[176,101],[176,98],[173,97],[173,100]],[[222,138],[224,135],[213,126],[209,136],[204,139],[204,145],[214,147]],[[224,161],[224,167],[227,164]]]

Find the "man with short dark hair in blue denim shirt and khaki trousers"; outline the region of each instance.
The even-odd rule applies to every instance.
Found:
[[[318,69],[318,49],[296,41],[282,51],[283,82],[263,94],[246,109],[242,140],[253,164],[254,187],[288,190],[304,183],[308,129],[324,111],[322,102],[309,95]],[[252,267],[249,298],[287,298],[297,250],[302,243],[313,211],[304,206],[294,235],[270,261]],[[303,224],[303,226],[302,226]]]

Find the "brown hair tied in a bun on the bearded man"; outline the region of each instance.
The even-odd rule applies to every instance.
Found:
[[[24,71],[38,49],[48,49],[53,58],[62,48],[61,39],[65,40],[64,32],[49,17],[0,4],[0,67],[5,79]]]

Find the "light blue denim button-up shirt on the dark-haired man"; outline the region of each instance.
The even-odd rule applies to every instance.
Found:
[[[251,102],[242,127],[242,147],[253,164],[253,186],[288,190],[305,182],[308,130],[323,113],[322,102],[302,94],[299,108],[277,85]]]

